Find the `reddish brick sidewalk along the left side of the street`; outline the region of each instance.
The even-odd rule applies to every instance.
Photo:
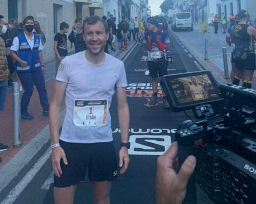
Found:
[[[111,51],[109,54],[115,56],[119,60],[123,60],[123,58],[132,51],[132,48],[137,44],[136,41],[128,42],[128,49],[119,50],[117,44],[116,52]],[[53,83],[54,83],[54,63],[55,61],[45,63],[45,81],[46,81],[46,89],[47,95],[50,100],[53,91]],[[22,92],[20,93],[22,95]],[[62,110],[65,108],[64,102],[62,104]],[[0,152],[0,157],[3,159],[0,163],[0,169],[10,162],[15,155],[17,155],[22,148],[24,148],[29,142],[35,138],[39,133],[43,133],[43,138],[45,141],[50,139],[50,132],[44,131],[45,127],[49,124],[48,117],[42,115],[43,110],[40,105],[39,97],[37,89],[34,88],[33,96],[30,99],[29,113],[34,115],[34,120],[26,121],[21,120],[21,141],[22,146],[19,148],[13,148],[13,118],[12,118],[12,88],[8,88],[5,110],[0,114],[0,142],[9,146],[9,150]],[[33,144],[35,146],[35,144]],[[33,147],[37,148],[37,147]],[[31,156],[31,155],[30,155]],[[34,156],[34,155],[33,155]],[[18,173],[18,172],[17,172]],[[11,181],[11,178],[10,178]]]

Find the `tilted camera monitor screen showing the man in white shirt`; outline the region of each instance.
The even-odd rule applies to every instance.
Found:
[[[223,100],[209,71],[165,75],[161,84],[172,111],[183,111]]]

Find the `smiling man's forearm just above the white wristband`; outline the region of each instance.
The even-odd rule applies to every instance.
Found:
[[[51,145],[59,143],[59,121],[60,121],[60,106],[55,104],[50,104],[49,122],[50,122]]]

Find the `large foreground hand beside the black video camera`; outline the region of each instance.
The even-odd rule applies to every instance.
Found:
[[[171,147],[157,158],[155,200],[156,204],[181,204],[186,196],[189,177],[196,166],[196,158],[189,156],[182,164],[180,171],[177,164],[178,145]]]

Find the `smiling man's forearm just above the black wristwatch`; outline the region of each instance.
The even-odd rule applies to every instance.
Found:
[[[128,105],[124,107],[118,107],[118,119],[119,127],[121,130],[121,140],[122,142],[128,142],[130,125],[130,113]]]

